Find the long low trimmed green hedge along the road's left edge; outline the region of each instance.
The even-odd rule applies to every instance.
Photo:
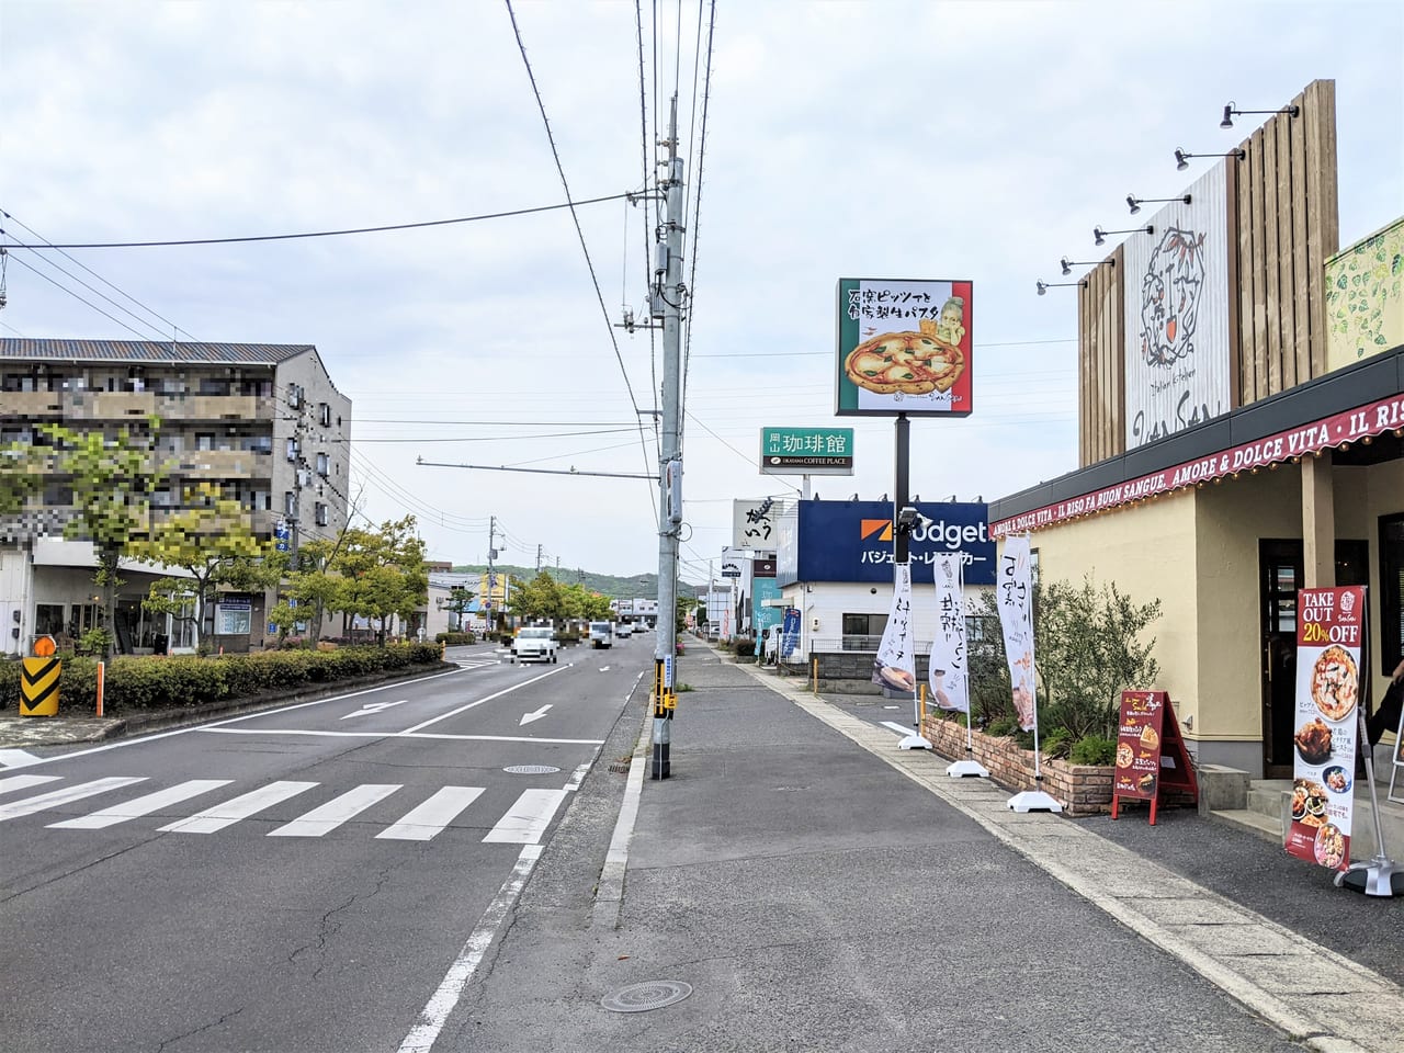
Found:
[[[334,651],[263,651],[212,658],[122,656],[107,664],[102,709],[195,708],[220,699],[253,698],[306,684],[334,684],[382,670],[439,661],[438,644],[338,647]],[[0,708],[20,705],[20,663],[0,661]],[[60,712],[97,709],[97,661],[69,657],[59,678]]]

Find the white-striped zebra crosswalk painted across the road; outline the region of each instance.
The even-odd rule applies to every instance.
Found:
[[[69,806],[76,802],[115,795],[149,782],[149,779],[140,775],[114,775],[63,786],[52,785],[58,782],[63,782],[63,776],[10,775],[0,778],[0,823],[58,809],[69,810]],[[177,806],[194,802],[197,797],[209,800],[216,790],[233,785],[234,779],[187,779],[46,826],[49,830],[107,830],[153,814],[166,819]],[[300,795],[312,795],[319,786],[322,786],[320,782],[270,782],[239,792],[184,819],[159,826],[156,830],[163,834],[215,834],[243,820],[261,816],[286,800]],[[39,788],[44,789],[39,790]],[[375,837],[390,841],[432,841],[477,802],[486,789],[486,786],[441,786],[379,830]],[[22,797],[11,796],[24,790],[39,792]],[[267,837],[326,837],[380,802],[392,799],[399,802],[414,792],[416,788],[407,790],[403,783],[395,782],[362,783],[343,790],[296,819],[270,830]],[[482,838],[483,844],[538,844],[567,793],[566,789],[524,790]]]

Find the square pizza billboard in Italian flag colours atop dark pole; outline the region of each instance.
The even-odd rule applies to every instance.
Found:
[[[969,416],[973,309],[969,281],[840,278],[835,416]]]

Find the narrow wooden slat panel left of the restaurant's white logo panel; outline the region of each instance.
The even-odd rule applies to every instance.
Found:
[[[1123,275],[1118,246],[1094,267],[1077,291],[1078,331],[1078,461],[1095,465],[1126,451],[1126,326]]]

